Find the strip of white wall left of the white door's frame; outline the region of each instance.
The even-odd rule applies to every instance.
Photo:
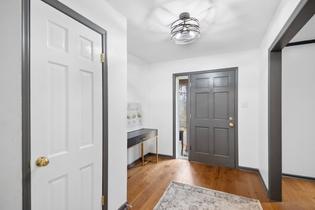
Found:
[[[1,210],[22,209],[21,5],[7,0],[0,6]]]

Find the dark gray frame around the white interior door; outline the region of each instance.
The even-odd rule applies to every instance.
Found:
[[[22,0],[22,200],[23,210],[31,210],[31,112],[30,112],[30,1]],[[107,83],[107,31],[58,0],[42,0],[65,15],[101,35],[102,53],[102,193],[103,210],[108,206],[108,83]]]

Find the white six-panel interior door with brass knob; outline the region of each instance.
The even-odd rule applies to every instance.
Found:
[[[101,35],[31,0],[32,210],[100,210]],[[45,156],[47,166],[35,160]]]

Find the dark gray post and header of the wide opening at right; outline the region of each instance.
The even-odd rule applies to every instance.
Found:
[[[282,201],[282,49],[315,14],[314,0],[301,0],[269,48],[268,197]]]

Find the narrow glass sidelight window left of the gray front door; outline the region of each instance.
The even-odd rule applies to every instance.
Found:
[[[176,157],[188,160],[188,76],[180,76],[176,78]]]

